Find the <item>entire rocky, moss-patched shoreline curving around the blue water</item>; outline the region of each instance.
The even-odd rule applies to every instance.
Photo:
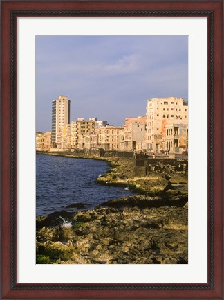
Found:
[[[110,170],[96,182],[129,188],[135,194],[105,201],[91,210],[38,216],[36,263],[188,262],[187,172],[176,172],[169,162],[159,172],[149,162],[150,172],[139,175],[132,157],[37,153],[107,161]],[[70,205],[79,206],[82,203]]]

